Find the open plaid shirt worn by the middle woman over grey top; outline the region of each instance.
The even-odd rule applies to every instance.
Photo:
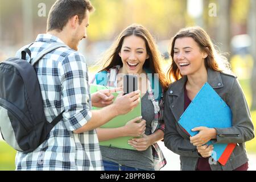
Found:
[[[119,69],[121,68],[120,65],[113,67],[112,69],[108,70],[108,81],[105,86],[112,86],[117,87],[117,74]],[[92,78],[93,84],[97,84],[96,77]],[[163,109],[164,109],[164,99],[163,99],[163,92],[162,98],[160,101],[155,100],[154,94],[150,85],[150,81],[148,80],[148,97],[152,101],[154,105],[154,120],[151,122],[151,133],[154,133],[156,130],[163,130],[165,128],[164,121],[163,121]],[[154,168],[155,170],[160,170],[162,167],[166,165],[166,159],[164,158],[163,152],[161,151],[158,143],[154,143],[152,145],[153,150],[153,159],[154,159]]]

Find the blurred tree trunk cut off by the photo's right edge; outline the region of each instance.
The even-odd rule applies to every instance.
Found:
[[[249,22],[248,31],[251,37],[251,48],[250,53],[253,56],[253,71],[251,73],[251,94],[252,94],[252,102],[251,102],[251,110],[256,110],[256,1],[251,0],[250,4],[250,14],[249,14]]]

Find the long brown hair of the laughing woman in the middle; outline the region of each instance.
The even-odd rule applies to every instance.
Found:
[[[110,49],[106,51],[105,56],[101,59],[102,63],[104,63],[101,71],[107,71],[116,65],[123,65],[121,57],[118,55],[118,53],[121,51],[123,40],[127,36],[131,35],[138,36],[144,40],[146,44],[146,51],[149,57],[145,61],[143,68],[150,69],[153,74],[158,73],[160,85],[164,90],[167,90],[169,83],[162,71],[162,59],[160,53],[156,48],[156,44],[150,32],[140,24],[131,24],[129,27],[126,27],[125,30],[121,32],[121,34],[119,34]]]

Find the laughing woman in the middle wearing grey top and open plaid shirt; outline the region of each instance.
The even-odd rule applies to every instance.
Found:
[[[122,79],[118,76],[120,73],[138,76],[156,73],[159,77],[159,84],[154,85],[157,84],[157,87],[161,88],[152,89],[150,78],[146,77],[143,81],[142,77],[139,77],[142,122],[137,123],[136,121],[141,118],[135,118],[123,127],[97,129],[100,141],[126,136],[143,136],[129,140],[129,144],[136,150],[101,146],[105,170],[158,170],[162,168],[166,160],[156,142],[162,140],[164,135],[164,124],[160,112],[163,111],[162,90],[167,89],[168,82],[160,69],[160,55],[150,32],[138,24],[125,28],[109,49],[108,56],[103,60],[104,69],[100,73],[106,73],[107,77],[101,83],[96,78],[95,84],[122,86]]]

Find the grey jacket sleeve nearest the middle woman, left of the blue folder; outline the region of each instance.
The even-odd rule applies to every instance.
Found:
[[[164,130],[164,145],[178,155],[200,157],[196,147],[190,143],[190,140],[181,137],[177,132],[176,121],[169,106],[167,93],[165,98],[163,111],[163,119],[166,125]]]

